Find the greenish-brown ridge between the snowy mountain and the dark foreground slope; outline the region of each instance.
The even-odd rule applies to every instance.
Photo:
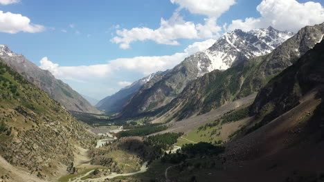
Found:
[[[255,57],[225,71],[215,70],[192,81],[163,108],[166,121],[181,120],[258,92],[272,77],[296,62],[321,41],[324,23],[307,26],[270,54]],[[161,113],[161,112],[160,112]]]

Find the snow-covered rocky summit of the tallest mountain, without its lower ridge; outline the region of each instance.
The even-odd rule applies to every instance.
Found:
[[[292,32],[281,32],[272,28],[260,28],[244,32],[240,29],[226,32],[213,46],[199,52],[205,54],[208,59],[201,59],[197,63],[199,73],[197,77],[213,70],[226,70],[232,65],[240,63],[252,57],[269,54],[281,43],[292,37]],[[209,60],[206,62],[206,60]]]

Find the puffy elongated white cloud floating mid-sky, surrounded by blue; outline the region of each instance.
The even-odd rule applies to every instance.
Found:
[[[192,21],[184,21],[178,12],[174,12],[168,20],[161,19],[161,26],[156,30],[150,28],[132,28],[117,30],[117,36],[111,39],[120,44],[122,49],[130,48],[134,41],[152,40],[159,44],[179,45],[177,39],[210,39],[218,37],[222,28],[216,25],[215,18],[205,19],[205,24],[195,25]]]

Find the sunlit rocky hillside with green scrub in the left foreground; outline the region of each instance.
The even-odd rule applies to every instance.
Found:
[[[89,148],[96,138],[86,125],[46,92],[0,59],[0,156],[17,169],[42,179],[57,179],[73,162],[75,145]],[[0,176],[17,181],[0,164]]]

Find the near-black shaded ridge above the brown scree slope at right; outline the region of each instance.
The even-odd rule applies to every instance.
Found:
[[[323,94],[323,70],[324,41],[321,41],[260,90],[251,107],[251,114],[268,112],[262,120],[267,123],[298,105],[300,98],[309,91],[318,89]]]

